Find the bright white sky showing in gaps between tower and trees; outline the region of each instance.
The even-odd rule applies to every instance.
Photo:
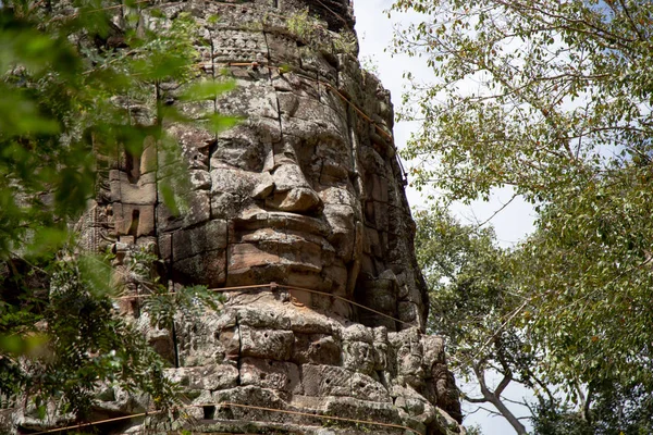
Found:
[[[402,76],[404,72],[409,71],[414,76],[424,82],[433,79],[431,71],[424,62],[419,59],[412,59],[405,55],[392,57],[390,51],[392,48],[393,29],[399,23],[407,23],[410,20],[417,20],[417,14],[402,15],[393,14],[387,18],[386,11],[392,4],[392,0],[354,0],[354,10],[356,14],[356,32],[360,40],[360,59],[364,65],[371,63],[377,65],[379,78],[383,86],[387,88],[393,96],[395,112],[398,111],[401,97],[408,86],[407,80]],[[396,123],[394,128],[395,142],[398,148],[402,148],[410,133],[418,128],[417,123]],[[408,166],[405,163],[405,166]],[[490,202],[477,201],[471,207],[455,207],[454,212],[465,222],[483,222],[492,214],[501,209],[503,204],[512,197],[509,189],[504,189],[495,192]],[[408,189],[408,200],[412,209],[424,208],[426,200],[420,197],[420,194],[414,189]],[[494,225],[497,238],[502,246],[512,246],[525,235],[533,229],[533,212],[528,203],[520,200],[513,201],[501,213],[491,220]],[[461,384],[461,380],[457,380]],[[494,380],[496,384],[498,380]],[[479,397],[473,394],[473,385],[461,385],[461,388],[469,393],[470,396]],[[513,400],[522,400],[530,397],[527,390],[519,388],[518,385],[510,385],[504,396]],[[520,409],[518,406],[509,406],[517,417],[528,414],[528,411]],[[466,407],[465,412],[473,411],[472,407]],[[528,427],[528,421],[522,421]],[[481,426],[484,435],[506,435],[514,433],[512,426],[503,418],[492,418],[488,412],[479,410],[465,419],[466,425],[478,424]]]

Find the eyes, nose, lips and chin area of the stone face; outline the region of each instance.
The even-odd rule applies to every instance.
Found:
[[[274,281],[344,295],[361,220],[346,134],[285,135],[249,116],[210,158],[212,215],[230,223],[226,285]]]

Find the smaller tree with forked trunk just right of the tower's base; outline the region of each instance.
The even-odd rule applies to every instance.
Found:
[[[428,326],[446,338],[456,373],[473,380],[481,393],[463,400],[491,403],[516,433],[526,434],[504,390],[516,382],[539,391],[544,402],[551,393],[532,369],[538,362],[532,344],[506,322],[522,302],[513,291],[509,252],[496,246],[492,228],[463,225],[444,209],[418,212],[416,221],[417,258],[429,287]],[[488,377],[495,374],[501,381],[492,388]]]

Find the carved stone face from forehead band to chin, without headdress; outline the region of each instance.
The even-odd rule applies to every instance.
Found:
[[[215,138],[171,129],[195,185],[183,222],[159,225],[171,233],[173,279],[210,287],[276,282],[350,297],[364,194],[346,104],[325,89],[298,92],[315,84],[296,76],[271,79],[260,67],[243,78],[244,69],[232,71],[236,89],[215,104],[218,113],[241,115],[241,124]],[[190,247],[180,249],[187,233]]]

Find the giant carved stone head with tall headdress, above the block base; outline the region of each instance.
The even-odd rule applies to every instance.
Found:
[[[197,48],[202,59],[226,65],[235,90],[189,102],[178,98],[185,85],[161,84],[157,95],[200,124],[213,113],[243,121],[219,135],[165,124],[193,184],[181,217],[157,195],[168,173],[157,144],[119,162],[100,201],[111,209],[108,235],[123,245],[156,246],[165,265],[161,275],[175,285],[276,282],[344,296],[423,327],[426,290],[392,142],[390,96],[350,53],[326,55],[330,44],[317,50],[285,33],[257,30],[260,16],[248,8],[213,7],[227,23],[251,20],[243,28],[204,23],[211,45]],[[184,8],[194,7],[165,11],[172,17]],[[207,66],[197,79],[221,78]],[[353,319],[352,308],[336,308],[333,298],[301,297]],[[356,318],[397,327],[369,311]]]

